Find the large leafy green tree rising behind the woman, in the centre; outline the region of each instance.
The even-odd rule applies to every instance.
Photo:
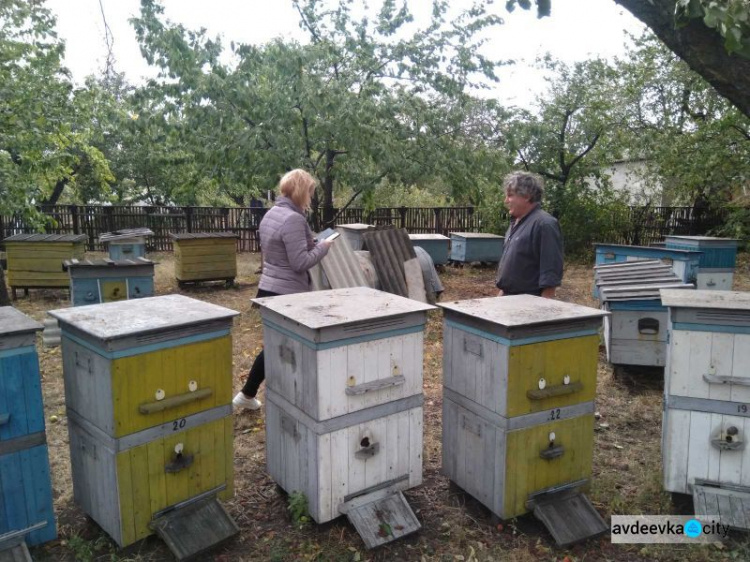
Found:
[[[196,158],[221,189],[241,198],[302,166],[320,179],[330,221],[336,184],[352,199],[385,179],[425,184],[445,170],[457,191],[476,184],[457,173],[456,151],[468,147],[461,112],[475,107],[464,92],[477,74],[494,79],[475,39],[500,23],[486,4],[449,22],[448,3],[436,1],[430,24],[407,34],[412,16],[393,0],[360,19],[347,0],[295,1],[309,44],[232,45],[231,68],[218,41],[163,23],[153,0],[134,25],[161,68],[153,94],[199,139]]]

